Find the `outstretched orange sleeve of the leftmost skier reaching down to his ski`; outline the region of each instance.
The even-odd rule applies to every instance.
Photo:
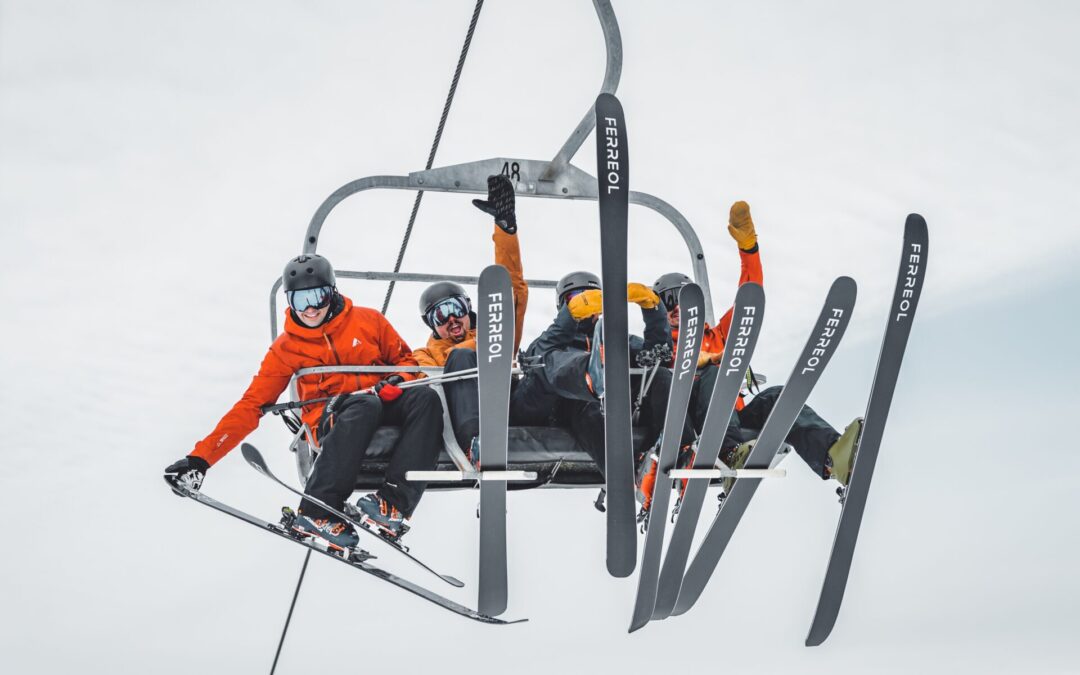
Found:
[[[217,463],[229,450],[240,445],[247,434],[255,431],[262,417],[259,408],[278,401],[292,377],[293,369],[274,353],[273,348],[267,351],[247,391],[225,414],[214,431],[195,444],[191,455],[205,459],[211,465]]]

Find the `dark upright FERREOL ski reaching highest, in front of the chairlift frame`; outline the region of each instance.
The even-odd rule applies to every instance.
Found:
[[[596,113],[596,191],[600,214],[600,278],[604,286],[604,458],[607,489],[607,568],[629,577],[637,557],[634,443],[630,409],[630,346],[626,318],[626,213],[630,157],[622,105],[600,94]]]

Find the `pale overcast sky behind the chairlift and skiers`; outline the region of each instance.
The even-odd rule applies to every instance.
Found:
[[[322,200],[423,167],[472,8],[0,0],[5,672],[269,670],[302,551],[175,499],[160,472],[255,372],[270,286]],[[727,211],[751,203],[768,298],[755,368],[782,382],[831,281],[859,282],[812,399],[837,427],[865,406],[904,217],[929,222],[922,306],[836,629],[802,647],[838,505],[792,458],[685,617],[626,636],[636,579],[604,569],[594,492],[515,492],[507,616],[528,624],[473,625],[319,556],[279,672],[339,660],[462,673],[1076,672],[1080,10],[615,9],[632,186],[694,226],[717,312],[739,273]],[[490,0],[436,165],[550,159],[603,73],[588,0]],[[575,163],[593,173],[592,158],[590,137]],[[340,269],[391,269],[411,201],[348,200],[320,252]],[[518,204],[528,276],[598,268],[595,204]],[[428,194],[403,269],[475,274],[489,235],[468,198]],[[642,282],[687,267],[674,230],[637,208],[630,248]],[[384,293],[342,289],[373,306]],[[414,347],[420,289],[399,286],[389,311]],[[550,293],[531,300],[526,341],[553,313]],[[293,481],[286,440],[275,420],[252,436]],[[205,488],[268,518],[293,502],[239,453]],[[453,596],[470,605],[475,502],[431,495],[409,534],[467,582]]]

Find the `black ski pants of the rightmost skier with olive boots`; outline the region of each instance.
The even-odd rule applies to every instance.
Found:
[[[761,428],[765,427],[765,421],[772,413],[783,389],[783,387],[770,387],[754,396],[742,410],[733,414],[721,447],[730,449],[740,443],[756,438],[761,433]],[[813,408],[805,405],[784,440],[795,447],[795,451],[814,473],[826,478],[828,476],[825,474],[825,460],[828,457],[828,448],[839,437],[840,433],[836,429],[814,413]]]

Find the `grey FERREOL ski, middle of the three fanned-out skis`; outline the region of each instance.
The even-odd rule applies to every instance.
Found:
[[[745,383],[746,368],[754,355],[764,319],[765,291],[761,286],[755,283],[739,286],[731,313],[731,327],[724,345],[724,357],[717,366],[719,370],[708,399],[708,413],[701,428],[701,437],[698,438],[693,469],[712,469],[716,465],[720,444],[724,443],[724,435],[728,430],[731,411],[739,400],[739,392]],[[690,557],[690,545],[693,543],[693,534],[698,527],[698,518],[707,489],[707,478],[687,480],[678,521],[675,523],[667,553],[664,555],[663,569],[660,572],[657,606],[652,610],[653,619],[666,619],[675,609],[675,600],[683,585],[686,562]]]

